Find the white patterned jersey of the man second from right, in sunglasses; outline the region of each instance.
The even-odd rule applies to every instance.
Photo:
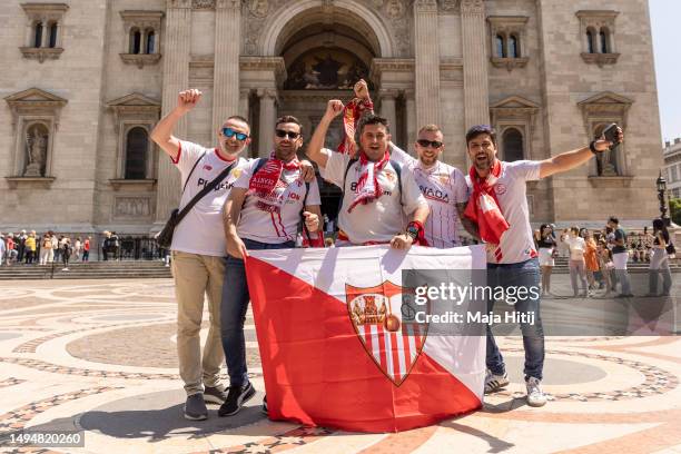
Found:
[[[458,246],[461,219],[456,204],[468,200],[468,186],[461,170],[442,161],[426,169],[418,159],[395,146],[392,159],[414,172],[414,179],[431,207],[424,226],[428,245],[437,248]]]

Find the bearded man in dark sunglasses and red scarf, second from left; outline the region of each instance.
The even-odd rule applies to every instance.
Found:
[[[246,367],[244,323],[250,297],[244,257],[249,249],[295,247],[302,218],[310,238],[317,245],[324,240],[319,187],[316,179],[304,181],[297,158],[303,126],[295,117],[285,116],[275,128],[274,151],[268,159],[255,159],[244,169],[224,209],[228,256],[220,325],[229,393],[218,411],[220,416],[236,414],[255,395]]]

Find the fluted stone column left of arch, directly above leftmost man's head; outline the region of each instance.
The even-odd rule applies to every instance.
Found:
[[[213,138],[229,116],[239,111],[240,0],[215,3],[215,70],[213,83]]]

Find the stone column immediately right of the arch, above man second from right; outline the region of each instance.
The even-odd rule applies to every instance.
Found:
[[[440,124],[440,42],[437,2],[414,2],[416,121]]]

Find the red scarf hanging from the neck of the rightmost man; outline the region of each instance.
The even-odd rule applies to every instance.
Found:
[[[471,167],[470,176],[473,181],[473,195],[471,203],[464,211],[464,216],[477,224],[480,237],[486,241],[499,245],[501,237],[509,229],[509,223],[499,207],[494,185],[501,175],[502,166],[499,159],[494,160],[494,165],[490,169],[490,174],[485,179],[477,176],[475,167]],[[494,251],[496,260],[502,259],[501,247]]]

